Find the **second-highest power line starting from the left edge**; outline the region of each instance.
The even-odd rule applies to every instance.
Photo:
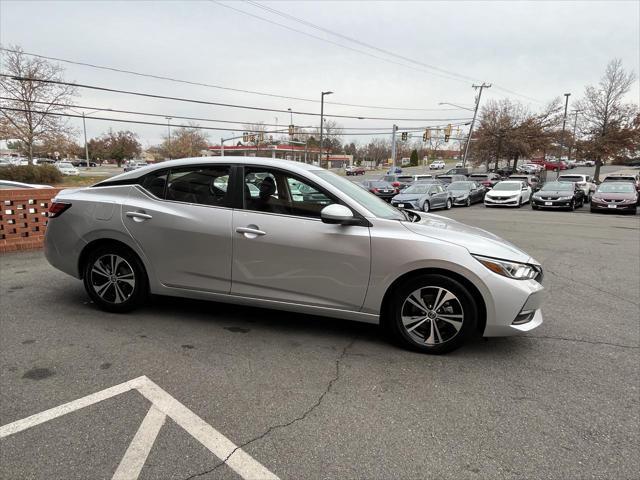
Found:
[[[125,95],[135,95],[135,96],[139,96],[139,97],[146,97],[146,98],[156,98],[156,99],[162,99],[162,100],[174,100],[174,101],[178,101],[178,102],[188,102],[188,103],[196,103],[196,104],[200,104],[200,105],[215,105],[218,107],[228,107],[228,108],[241,108],[241,109],[246,109],[246,110],[256,110],[256,111],[261,111],[261,112],[277,112],[277,113],[293,113],[296,115],[309,115],[309,116],[313,116],[313,117],[319,117],[320,114],[319,113],[315,113],[315,112],[299,112],[299,111],[290,111],[290,110],[283,110],[283,109],[275,109],[275,108],[264,108],[264,107],[253,107],[250,105],[236,105],[236,104],[231,104],[231,103],[221,103],[221,102],[210,102],[210,101],[206,101],[206,100],[195,100],[195,99],[190,99],[190,98],[181,98],[181,97],[171,97],[171,96],[166,96],[166,95],[157,95],[157,94],[152,94],[152,93],[142,93],[142,92],[133,92],[130,90],[120,90],[120,89],[115,89],[115,88],[107,88],[107,87],[98,87],[95,85],[87,85],[87,84],[82,84],[82,83],[70,83],[70,82],[63,82],[63,81],[59,81],[59,80],[46,80],[46,79],[40,79],[40,78],[29,78],[29,77],[20,77],[20,76],[15,76],[15,75],[7,75],[7,74],[0,74],[0,77],[6,77],[6,78],[11,78],[12,80],[17,80],[17,81],[33,81],[33,82],[41,82],[41,83],[50,83],[50,84],[55,84],[55,85],[69,85],[69,86],[74,86],[74,87],[79,87],[79,88],[87,88],[87,89],[91,89],[91,90],[99,90],[99,91],[103,91],[103,92],[111,92],[111,93],[121,93],[121,94],[125,94]],[[361,116],[354,116],[354,115],[324,115],[325,117],[331,117],[331,118],[349,118],[349,119],[354,119],[354,120],[394,120],[394,121],[407,121],[407,122],[439,122],[439,121],[457,121],[457,120],[467,120],[467,118],[391,118],[391,117],[361,117]]]

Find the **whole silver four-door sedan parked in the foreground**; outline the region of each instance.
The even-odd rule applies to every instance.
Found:
[[[112,312],[209,299],[380,323],[427,353],[542,323],[542,269],[516,246],[282,160],[174,160],[63,190],[45,254]]]

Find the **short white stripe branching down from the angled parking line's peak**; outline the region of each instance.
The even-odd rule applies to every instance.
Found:
[[[112,480],[138,478],[166,419],[167,416],[163,412],[151,405],[147,416],[144,417],[140,428],[138,428],[136,435],[131,440],[124,457],[120,460],[120,465],[118,465],[116,473],[113,474]]]

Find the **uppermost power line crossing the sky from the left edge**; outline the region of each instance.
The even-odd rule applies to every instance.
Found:
[[[182,83],[182,84],[186,84],[186,85],[194,85],[194,86],[198,86],[198,87],[217,88],[217,89],[220,89],[220,90],[228,90],[228,91],[231,91],[231,92],[248,93],[248,94],[251,94],[251,95],[261,95],[261,96],[265,96],[265,97],[282,98],[282,99],[286,99],[286,100],[296,100],[296,101],[300,101],[300,102],[320,103],[319,100],[315,100],[315,99],[311,99],[311,98],[292,97],[292,96],[287,96],[287,95],[279,95],[279,94],[275,94],[275,93],[259,92],[259,91],[256,91],[256,90],[247,90],[247,89],[242,89],[242,88],[224,87],[222,85],[215,85],[215,84],[211,84],[211,83],[196,82],[196,81],[191,81],[191,80],[172,78],[172,77],[167,77],[167,76],[164,76],[164,75],[155,75],[155,74],[152,74],[152,73],[134,72],[132,70],[125,70],[125,69],[122,69],[122,68],[107,67],[107,66],[103,66],[103,65],[96,65],[96,64],[93,64],[93,63],[80,62],[80,61],[76,61],[76,60],[69,60],[69,59],[58,58],[58,57],[50,57],[50,56],[46,56],[46,55],[40,55],[40,54],[37,54],[37,53],[24,52],[22,50],[15,50],[15,49],[11,49],[11,48],[0,47],[0,50],[3,50],[5,52],[12,52],[12,53],[19,53],[19,54],[22,54],[22,55],[28,55],[30,57],[42,58],[42,59],[45,59],[45,60],[52,60],[52,61],[55,61],[55,62],[68,63],[70,65],[79,65],[79,66],[90,67],[90,68],[95,68],[95,69],[99,69],[99,70],[108,70],[108,71],[112,71],[112,72],[125,73],[125,74],[128,74],[128,75],[135,75],[135,76],[138,76],[138,77],[153,78],[153,79],[156,79],[156,80],[167,80],[167,81],[170,81],[170,82]],[[375,110],[400,110],[400,111],[416,111],[416,112],[447,112],[447,111],[459,110],[459,109],[456,109],[456,108],[387,107],[387,106],[380,106],[380,105],[360,105],[360,104],[342,103],[342,102],[324,102],[324,103],[325,104],[330,104],[330,105],[339,105],[339,106],[343,106],[343,107],[369,108],[369,109],[375,109]]]

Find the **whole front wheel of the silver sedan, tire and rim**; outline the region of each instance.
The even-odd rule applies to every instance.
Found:
[[[394,292],[385,327],[397,343],[423,353],[447,353],[476,331],[477,306],[459,282],[440,274],[411,278]]]

